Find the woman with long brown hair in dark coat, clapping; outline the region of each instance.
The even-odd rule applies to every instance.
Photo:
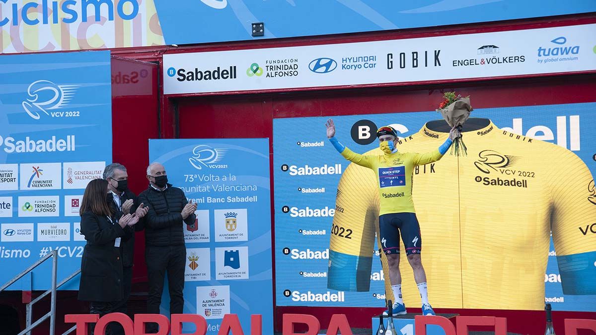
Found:
[[[94,179],[85,188],[80,206],[80,231],[87,244],[80,265],[79,300],[90,302],[90,314],[111,313],[122,300],[122,259],[120,241],[123,228],[138,222],[133,214],[114,218],[106,197],[108,182]]]

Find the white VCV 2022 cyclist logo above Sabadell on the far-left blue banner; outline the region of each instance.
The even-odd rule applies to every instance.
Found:
[[[80,85],[56,85],[49,80],[37,80],[27,88],[27,98],[21,105],[27,114],[35,120],[41,113],[51,117],[78,117],[79,111],[59,111],[67,107]]]

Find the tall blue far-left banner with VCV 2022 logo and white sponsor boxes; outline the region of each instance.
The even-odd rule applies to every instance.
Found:
[[[23,39],[31,39],[31,34],[47,27],[42,15],[49,13],[51,22],[55,11],[42,13],[46,3],[58,4],[0,2],[0,24],[5,18],[12,22],[13,16],[18,16],[14,21],[18,26],[0,27],[5,42],[0,48],[7,52],[11,41],[19,41],[9,37],[18,35],[9,34],[10,27],[20,27]],[[35,8],[39,10],[35,12],[39,24],[24,23],[19,16],[19,8],[24,6],[29,8],[30,20],[35,18]],[[101,7],[102,11],[108,8],[106,4]],[[90,16],[95,13],[92,8],[90,4]],[[92,39],[99,42],[105,35],[101,35],[101,26],[97,27],[100,35]],[[35,39],[27,42],[27,48],[37,42],[48,43]],[[0,268],[5,271],[0,272],[0,283],[52,250],[64,258],[58,266],[58,278],[65,278],[80,268],[85,245],[84,236],[79,234],[83,190],[91,178],[101,177],[105,163],[111,160],[110,52],[0,55],[0,69],[0,218],[10,218],[3,223],[31,225],[30,235],[11,237],[26,240],[2,240]],[[51,273],[51,262],[35,268],[31,289],[49,289]],[[78,287],[75,279],[60,289]],[[22,285],[15,283],[8,289],[21,290]]]

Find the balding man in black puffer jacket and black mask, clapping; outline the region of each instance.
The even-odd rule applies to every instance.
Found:
[[[167,271],[170,314],[182,314],[186,266],[183,225],[194,224],[197,204],[188,203],[184,191],[167,184],[166,169],[160,163],[148,166],[147,179],[149,187],[139,194],[138,200],[149,209],[144,221],[145,261],[149,280],[147,312],[159,314]],[[150,324],[147,330],[156,332],[157,324]]]

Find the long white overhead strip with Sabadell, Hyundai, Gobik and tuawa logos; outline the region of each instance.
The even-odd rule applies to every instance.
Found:
[[[164,93],[427,82],[596,70],[596,24],[285,48],[166,54]],[[463,47],[462,47],[463,46]],[[324,145],[318,139],[293,142]]]

